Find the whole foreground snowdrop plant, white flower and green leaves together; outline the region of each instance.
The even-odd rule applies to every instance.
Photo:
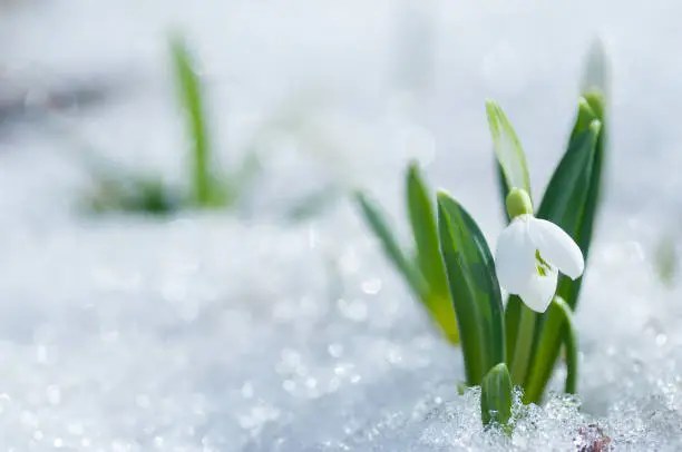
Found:
[[[513,425],[513,387],[520,386],[525,403],[539,402],[562,348],[565,391],[577,390],[573,312],[592,243],[606,154],[605,87],[598,86],[604,83],[605,65],[600,56],[603,52],[591,56],[591,89],[578,100],[566,151],[537,209],[530,197],[530,173],[520,140],[503,109],[487,101],[508,220],[497,240],[495,259],[474,218],[445,191],[437,196],[437,256],[430,203],[423,190],[415,191],[419,196],[408,190],[417,245],[413,259],[398,246],[377,207],[364,195],[358,197],[387,254],[441,326],[442,318],[451,321],[451,314],[439,317],[433,306],[445,305],[433,304],[433,299],[437,295],[439,301],[451,303],[466,384],[481,386],[483,422],[503,424],[506,432]],[[408,180],[415,174],[412,166]],[[506,304],[500,287],[510,295]]]

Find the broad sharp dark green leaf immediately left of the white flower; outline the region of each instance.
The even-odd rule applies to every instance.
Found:
[[[505,361],[501,294],[486,239],[471,216],[447,193],[438,193],[440,252],[465,360],[467,383]]]

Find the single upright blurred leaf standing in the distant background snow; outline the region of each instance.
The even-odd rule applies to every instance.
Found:
[[[198,207],[215,203],[213,199],[213,180],[210,174],[210,144],[201,81],[194,68],[192,56],[184,40],[173,37],[170,40],[174,75],[178,98],[185,114],[187,131],[192,137],[192,189],[193,202]]]

